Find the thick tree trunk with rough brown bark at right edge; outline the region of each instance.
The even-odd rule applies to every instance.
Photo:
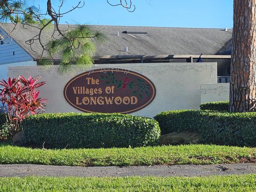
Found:
[[[230,112],[256,111],[256,0],[234,0]]]

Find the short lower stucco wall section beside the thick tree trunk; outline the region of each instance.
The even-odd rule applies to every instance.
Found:
[[[229,83],[201,85],[201,103],[227,100],[229,100]]]

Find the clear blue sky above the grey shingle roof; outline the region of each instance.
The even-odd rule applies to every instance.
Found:
[[[45,0],[34,0],[45,9]],[[53,0],[58,7],[60,1]],[[63,11],[76,5],[78,0],[66,0]],[[118,3],[119,0],[109,0]],[[110,6],[107,0],[85,0],[81,9],[70,12],[61,23],[154,26],[188,28],[232,28],[233,0],[132,0],[136,10],[132,13],[120,6]]]

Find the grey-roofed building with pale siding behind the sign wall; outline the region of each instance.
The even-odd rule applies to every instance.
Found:
[[[67,28],[67,25],[61,25]],[[72,26],[71,26],[72,27]],[[218,83],[230,81],[231,29],[91,26],[107,36],[108,41],[97,45],[95,64],[106,63],[162,63],[196,62],[202,55],[203,62],[218,63]],[[0,23],[0,33],[13,30],[12,23]],[[17,25],[10,43],[1,41],[0,77],[7,77],[11,66],[36,66],[42,47],[38,42],[25,43],[38,34],[38,29]],[[44,43],[51,33],[44,33]],[[32,48],[32,49],[31,49]],[[43,58],[49,59],[47,53]],[[58,65],[58,55],[54,64]],[[202,63],[203,65],[203,63]]]

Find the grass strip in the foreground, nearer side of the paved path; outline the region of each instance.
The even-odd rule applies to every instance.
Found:
[[[256,174],[215,177],[1,178],[1,191],[255,191]]]

